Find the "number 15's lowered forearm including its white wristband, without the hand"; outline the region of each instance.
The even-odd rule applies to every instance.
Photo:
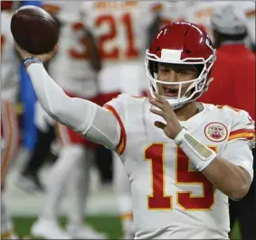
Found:
[[[204,144],[198,142],[185,130],[178,135],[178,141],[195,168],[213,183],[214,188],[221,190],[232,199],[241,199],[250,188],[249,173],[242,167],[217,157],[216,153]]]

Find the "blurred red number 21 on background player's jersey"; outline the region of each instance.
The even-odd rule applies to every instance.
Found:
[[[134,41],[134,28],[130,14],[123,14],[120,19],[115,19],[112,15],[101,15],[95,21],[95,26],[100,28],[102,25],[109,26],[109,33],[103,34],[99,38],[100,57],[103,60],[120,60],[138,57],[138,50]],[[111,50],[106,50],[106,44],[115,42],[119,36],[118,26],[121,24],[125,28],[127,37],[127,46],[124,52],[121,52],[118,44],[114,44]]]

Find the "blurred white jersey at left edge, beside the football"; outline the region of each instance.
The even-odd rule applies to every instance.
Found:
[[[14,103],[18,91],[19,61],[14,52],[11,19],[11,12],[1,12],[1,97]]]

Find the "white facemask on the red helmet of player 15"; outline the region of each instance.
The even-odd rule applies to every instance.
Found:
[[[155,97],[155,92],[158,93],[157,84],[163,84],[165,86],[172,86],[174,88],[178,88],[177,97],[163,96],[166,98],[166,100],[173,107],[174,110],[185,106],[185,104],[189,102],[194,101],[198,97],[201,97],[204,91],[208,88],[208,75],[213,67],[214,60],[215,57],[213,54],[207,60],[204,60],[204,58],[187,58],[185,60],[166,61],[161,60],[155,54],[151,54],[149,53],[149,51],[146,51],[145,65],[151,96]],[[192,65],[194,69],[200,69],[198,72],[198,77],[181,82],[161,81],[158,79],[158,64],[161,62],[179,65]],[[187,85],[188,87],[186,87],[185,93],[182,93],[183,88]]]

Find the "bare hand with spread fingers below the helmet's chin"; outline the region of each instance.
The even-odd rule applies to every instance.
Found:
[[[156,127],[163,129],[167,137],[175,139],[177,134],[179,134],[182,130],[182,126],[180,125],[172,106],[170,106],[166,98],[157,93],[155,93],[155,96],[155,98],[149,98],[149,102],[153,106],[158,107],[160,110],[151,108],[150,111],[153,114],[161,115],[166,120],[166,124],[159,121],[156,121],[154,124]]]

